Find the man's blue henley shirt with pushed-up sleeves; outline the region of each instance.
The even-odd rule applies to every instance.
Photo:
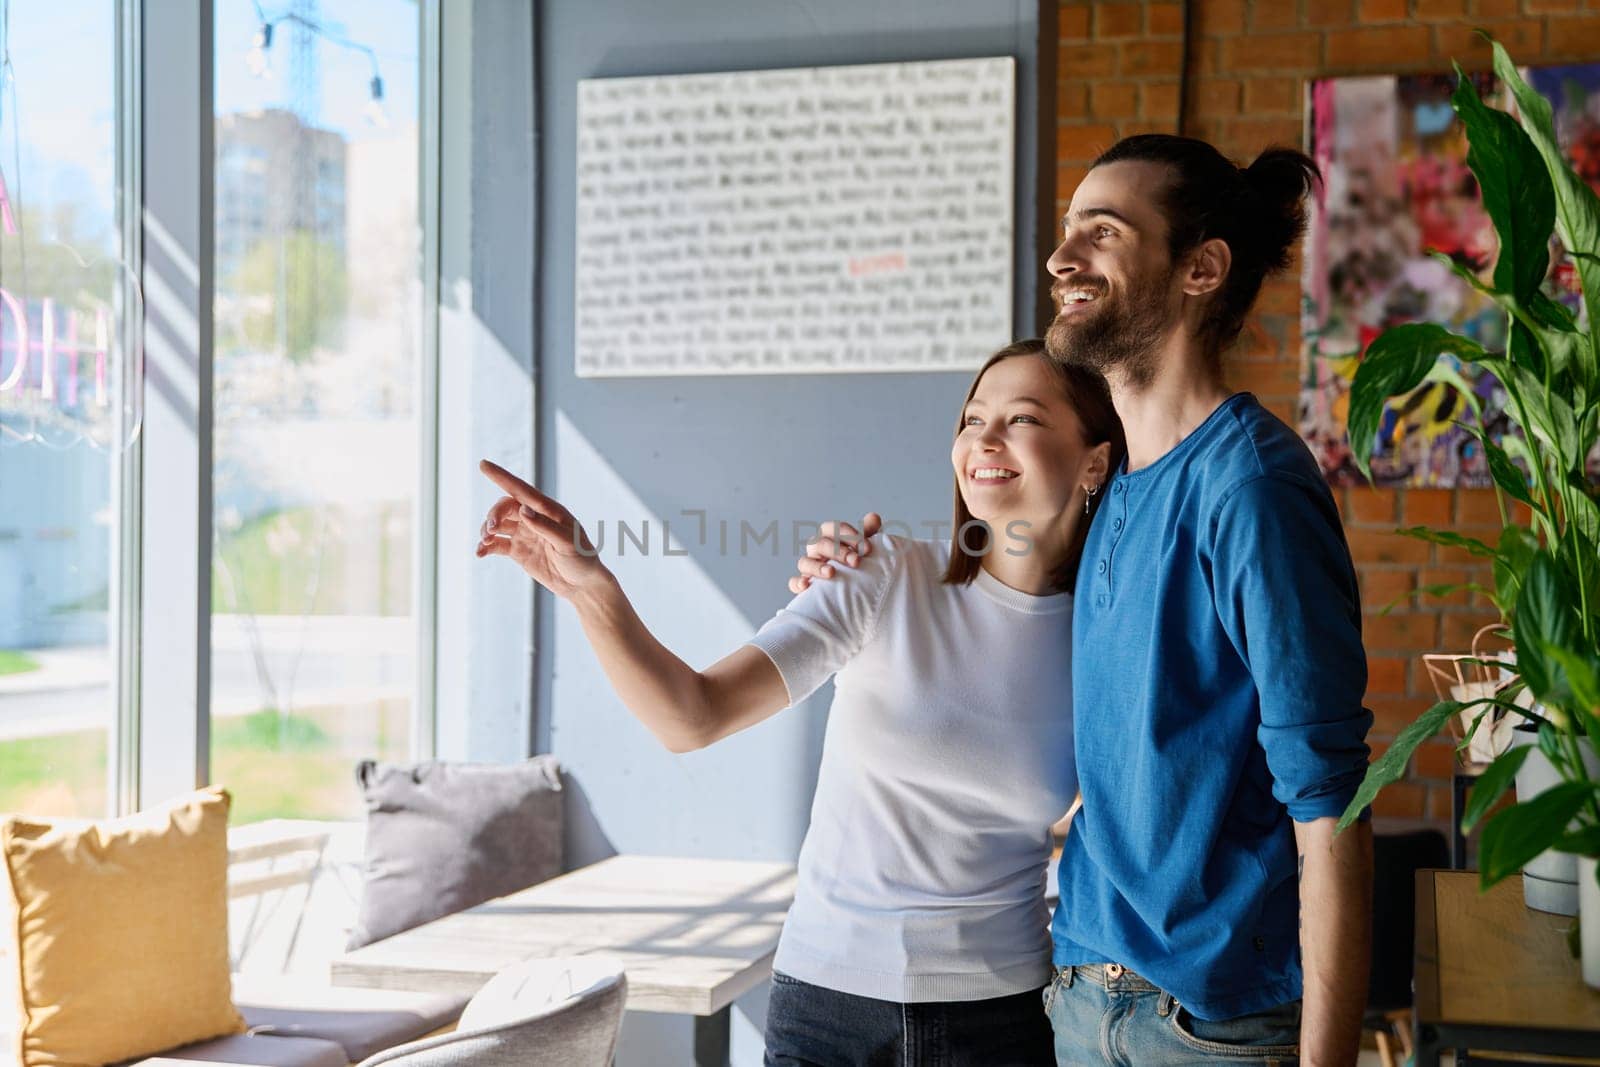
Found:
[[[1202,1019],[1294,1000],[1291,821],[1344,811],[1371,725],[1333,494],[1294,430],[1235,394],[1101,510],[1072,635],[1083,808],[1056,965],[1120,963]]]

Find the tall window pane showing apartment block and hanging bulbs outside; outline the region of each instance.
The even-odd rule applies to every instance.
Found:
[[[414,707],[414,0],[216,0],[211,777],[354,817]]]

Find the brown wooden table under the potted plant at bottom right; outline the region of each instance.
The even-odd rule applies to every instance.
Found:
[[[1477,872],[1416,872],[1416,1062],[1600,1057],[1600,990],[1566,950],[1571,923],[1526,907],[1520,878],[1480,894]]]

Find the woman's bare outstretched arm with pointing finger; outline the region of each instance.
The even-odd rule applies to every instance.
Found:
[[[570,510],[486,459],[478,469],[506,496],[490,509],[477,555],[509,557],[578,609],[611,688],[667,749],[702,749],[789,705],[782,675],[758,648],[746,645],[706,670],[674,656]]]

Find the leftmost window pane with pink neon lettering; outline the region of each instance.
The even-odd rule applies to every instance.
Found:
[[[109,813],[114,472],[138,427],[117,3],[0,26],[0,811]],[[134,320],[136,322],[136,320]]]

